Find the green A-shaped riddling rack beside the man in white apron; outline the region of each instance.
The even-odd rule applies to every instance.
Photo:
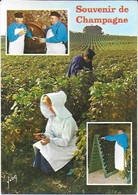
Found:
[[[89,173],[103,169],[104,176],[107,178],[118,172],[114,166],[114,145],[115,142],[101,140],[99,134],[94,136]]]

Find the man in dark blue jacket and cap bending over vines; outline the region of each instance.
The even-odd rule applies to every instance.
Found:
[[[92,58],[95,56],[95,52],[92,49],[87,49],[83,54],[79,54],[77,56],[74,56],[72,59],[68,71],[67,76],[71,77],[73,75],[77,75],[77,73],[86,68],[90,72],[92,72]]]

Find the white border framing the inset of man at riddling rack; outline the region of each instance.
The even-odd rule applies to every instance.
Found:
[[[130,124],[130,129],[131,129],[131,132],[130,132],[130,134],[131,134],[131,140],[130,140],[130,146],[131,146],[131,183],[130,184],[114,184],[114,183],[113,184],[101,184],[101,183],[90,184],[90,183],[88,183],[88,125],[89,124]],[[132,180],[133,180],[133,178],[132,178],[132,164],[133,164],[133,162],[132,162],[132,149],[133,149],[132,148],[132,122],[87,122],[86,123],[86,176],[87,176],[86,185],[89,185],[89,186],[91,186],[91,185],[117,185],[117,186],[118,185],[120,185],[120,186],[133,185],[133,182],[132,182]]]

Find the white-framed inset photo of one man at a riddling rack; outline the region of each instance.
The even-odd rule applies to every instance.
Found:
[[[132,123],[87,123],[87,185],[132,185]]]

